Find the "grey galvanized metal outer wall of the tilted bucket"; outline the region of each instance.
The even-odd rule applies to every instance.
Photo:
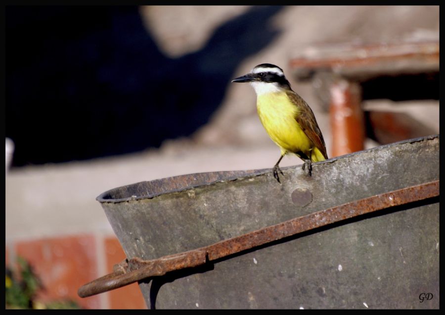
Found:
[[[439,136],[316,163],[312,177],[300,166],[283,172],[282,185],[270,170],[238,179],[242,172],[192,174],[171,178],[167,190],[162,180],[138,183],[98,200],[127,257],[151,260],[438,180]],[[301,203],[296,190],[305,192]],[[158,308],[437,308],[438,198],[395,208],[170,272],[140,288]],[[420,304],[423,291],[435,298]]]

